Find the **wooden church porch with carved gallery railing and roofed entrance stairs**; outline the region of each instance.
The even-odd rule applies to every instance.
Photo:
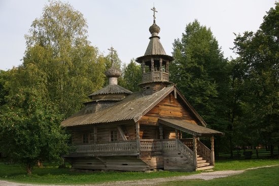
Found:
[[[123,160],[124,157],[134,157],[142,160],[147,170],[163,168],[193,171],[214,167],[214,135],[223,133],[178,119],[159,119],[158,123],[160,139],[141,139],[140,124],[135,123],[136,139],[74,145],[66,158],[102,157],[102,162],[106,162],[110,157],[122,157]],[[163,131],[167,128],[175,130],[174,139],[163,139]],[[181,132],[191,134],[192,138],[182,139]],[[200,142],[199,137],[210,137],[211,148]]]

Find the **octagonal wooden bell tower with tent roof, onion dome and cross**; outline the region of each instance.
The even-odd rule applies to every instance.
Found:
[[[136,58],[137,63],[142,66],[142,83],[140,86],[143,89],[144,95],[152,95],[155,92],[163,89],[169,82],[168,65],[173,58],[166,54],[158,34],[160,27],[156,24],[155,7],[153,11],[153,24],[149,27],[151,37],[146,52],[143,56]]]

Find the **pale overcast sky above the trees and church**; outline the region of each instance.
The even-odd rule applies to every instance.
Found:
[[[88,39],[104,55],[113,46],[123,63],[144,55],[149,43],[149,27],[160,26],[160,41],[168,55],[172,43],[181,38],[185,27],[197,19],[210,27],[224,56],[235,58],[230,49],[233,33],[242,34],[259,28],[263,16],[276,0],[68,0],[81,12],[88,24]],[[40,18],[47,0],[0,0],[0,70],[22,64],[26,48],[24,35],[32,21]]]

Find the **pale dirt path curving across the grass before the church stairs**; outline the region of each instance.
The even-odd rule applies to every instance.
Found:
[[[279,165],[271,165],[271,166],[263,166],[263,167],[274,167]],[[164,177],[164,178],[153,178],[153,179],[141,179],[141,180],[131,180],[131,181],[114,181],[114,182],[106,182],[100,184],[81,184],[84,186],[105,186],[105,185],[112,185],[112,186],[128,186],[128,185],[153,185],[158,184],[166,181],[179,181],[179,180],[187,180],[187,179],[203,179],[203,180],[210,180],[215,178],[227,177],[231,175],[236,175],[243,173],[246,170],[251,169],[258,169],[263,167],[255,167],[249,168],[245,170],[226,170],[226,171],[212,171],[212,172],[202,172],[200,174],[193,174],[189,176],[172,176],[172,177]],[[57,186],[56,184],[27,184],[27,183],[15,183],[9,181],[0,180],[1,186]],[[67,186],[81,186],[81,185],[67,185]]]

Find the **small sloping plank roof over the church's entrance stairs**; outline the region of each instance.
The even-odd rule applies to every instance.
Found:
[[[215,131],[213,129],[208,129],[206,127],[202,127],[185,120],[180,119],[166,119],[159,118],[159,123],[175,128],[177,130],[195,135],[195,136],[212,136],[212,135],[224,135],[224,133]]]

